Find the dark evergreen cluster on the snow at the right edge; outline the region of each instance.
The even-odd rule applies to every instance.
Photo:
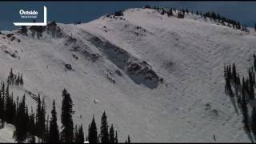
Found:
[[[247,131],[256,135],[256,107],[250,102],[255,100],[255,71],[256,55],[254,54],[254,65],[248,69],[248,76],[240,78],[235,64],[224,66],[225,92],[230,98],[235,98],[242,110],[242,122]],[[241,81],[242,79],[242,81]],[[251,110],[250,110],[251,108]]]

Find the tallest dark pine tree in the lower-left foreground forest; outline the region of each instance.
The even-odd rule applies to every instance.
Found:
[[[74,139],[74,126],[72,114],[73,111],[73,102],[70,98],[70,94],[66,89],[62,90],[62,133],[61,140],[62,142],[73,142]]]

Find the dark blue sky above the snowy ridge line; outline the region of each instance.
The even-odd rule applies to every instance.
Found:
[[[37,10],[37,22],[42,22],[43,6],[47,7],[47,21],[61,23],[74,23],[74,21],[90,22],[103,14],[112,14],[116,10],[127,8],[138,8],[142,6],[164,6],[193,11],[215,11],[225,16],[238,20],[247,26],[254,26],[256,23],[256,2],[229,2],[229,1],[97,1],[97,2],[0,2],[0,30],[15,30],[13,22],[32,21],[32,19],[20,18],[19,10]]]

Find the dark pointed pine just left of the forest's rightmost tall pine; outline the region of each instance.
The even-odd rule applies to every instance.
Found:
[[[94,116],[93,116],[93,119],[92,119],[92,121],[89,125],[88,141],[90,143],[97,143],[98,142],[97,126],[96,126],[96,122],[94,120]]]

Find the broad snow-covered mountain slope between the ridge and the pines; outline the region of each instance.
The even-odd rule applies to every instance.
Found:
[[[235,62],[246,73],[256,52],[254,32],[150,9],[58,26],[60,38],[46,32],[40,39],[0,34],[0,78],[6,79],[11,67],[22,73],[24,86],[11,90],[14,96],[26,94],[34,109],[30,93],[46,98],[48,114],[55,99],[60,124],[66,88],[75,123],[86,130],[95,114],[99,128],[106,110],[121,142],[128,134],[132,142],[214,142],[214,134],[216,142],[250,142],[242,114],[224,93],[223,66]]]

